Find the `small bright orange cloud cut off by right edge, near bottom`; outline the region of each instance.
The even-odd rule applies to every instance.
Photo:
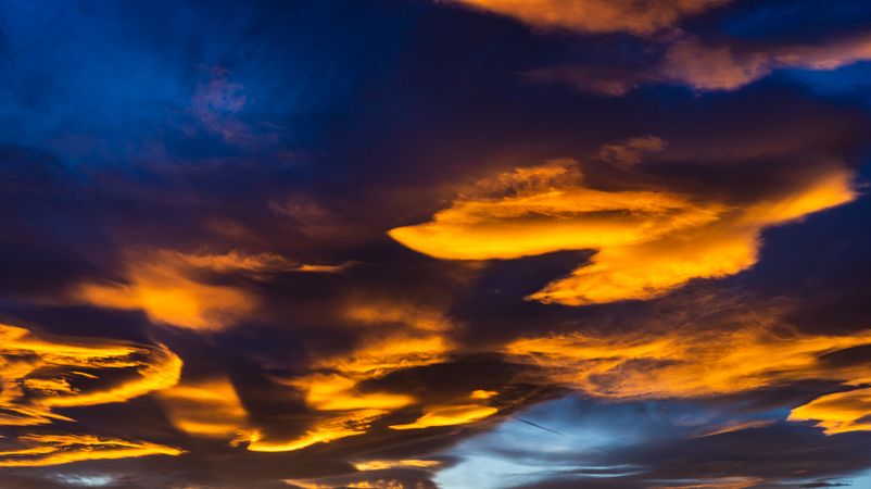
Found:
[[[871,375],[864,381],[871,380]],[[826,435],[871,431],[871,388],[820,397],[794,409],[791,421],[816,421]]]

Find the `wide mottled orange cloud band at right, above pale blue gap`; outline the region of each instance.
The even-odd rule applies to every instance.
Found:
[[[830,368],[829,353],[871,344],[871,331],[847,336],[775,331],[674,331],[619,337],[581,334],[520,339],[506,347],[516,362],[542,367],[548,380],[605,398],[693,398],[792,381],[871,381],[871,369]]]

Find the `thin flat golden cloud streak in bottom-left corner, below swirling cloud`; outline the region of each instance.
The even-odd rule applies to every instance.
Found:
[[[98,438],[90,435],[25,435],[21,447],[0,450],[0,467],[38,467],[86,460],[180,455],[181,450],[144,441]]]

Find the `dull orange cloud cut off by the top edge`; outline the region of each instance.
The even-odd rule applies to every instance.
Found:
[[[729,0],[454,0],[542,29],[649,35]]]

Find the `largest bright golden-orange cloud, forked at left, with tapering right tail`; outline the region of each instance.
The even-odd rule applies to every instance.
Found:
[[[851,175],[832,168],[786,196],[743,205],[668,190],[598,190],[573,162],[518,168],[457,198],[432,221],[391,229],[396,241],[443,260],[516,259],[597,250],[591,263],[529,298],[584,305],[645,300],[693,278],[736,274],[757,261],[766,227],[849,202]]]

